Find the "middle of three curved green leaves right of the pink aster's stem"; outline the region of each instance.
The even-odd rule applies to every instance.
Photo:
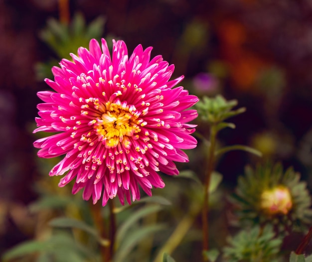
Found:
[[[128,230],[134,226],[135,223],[137,223],[141,218],[158,212],[161,210],[162,207],[159,205],[149,205],[149,206],[144,206],[138,211],[136,211],[134,214],[132,214],[129,219],[127,219],[118,229],[117,234],[116,234],[116,243],[117,245],[124,239],[127,235]]]

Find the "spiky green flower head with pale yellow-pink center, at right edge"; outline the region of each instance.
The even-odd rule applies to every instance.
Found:
[[[270,223],[287,233],[312,222],[307,183],[292,167],[284,172],[281,163],[247,166],[231,199],[243,225]]]

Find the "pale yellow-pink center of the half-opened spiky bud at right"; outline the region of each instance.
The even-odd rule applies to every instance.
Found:
[[[285,186],[265,190],[261,195],[261,208],[270,215],[286,215],[292,207],[292,196]]]

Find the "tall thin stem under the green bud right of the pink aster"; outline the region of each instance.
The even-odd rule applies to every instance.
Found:
[[[203,233],[203,252],[209,249],[209,224],[208,224],[208,205],[209,205],[209,185],[212,171],[214,170],[215,162],[215,143],[216,143],[217,129],[216,125],[212,124],[210,128],[210,147],[207,159],[206,174],[204,177],[204,199],[202,208],[202,233]],[[208,259],[203,256],[203,261],[208,261]]]

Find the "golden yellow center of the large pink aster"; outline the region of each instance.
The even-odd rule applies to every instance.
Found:
[[[125,136],[141,131],[135,109],[110,102],[105,106],[106,112],[96,118],[94,129],[107,148],[116,147]]]

